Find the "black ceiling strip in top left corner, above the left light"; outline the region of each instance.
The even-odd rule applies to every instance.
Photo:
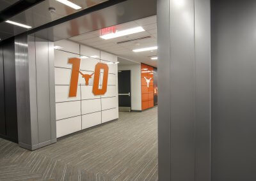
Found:
[[[8,20],[9,18],[31,8],[32,6],[35,6],[38,3],[41,3],[42,1],[45,0],[20,0],[3,11],[0,11],[0,22],[4,22],[5,20]]]

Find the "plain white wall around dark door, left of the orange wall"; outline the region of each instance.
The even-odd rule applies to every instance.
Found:
[[[131,109],[141,110],[141,65],[118,65],[118,70],[131,70]]]

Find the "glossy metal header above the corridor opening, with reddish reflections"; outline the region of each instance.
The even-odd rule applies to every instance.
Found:
[[[144,8],[145,4],[147,8]],[[58,41],[153,15],[156,15],[156,0],[129,0],[102,10],[90,11],[81,17],[65,20],[58,25],[37,31],[35,35],[50,41]]]

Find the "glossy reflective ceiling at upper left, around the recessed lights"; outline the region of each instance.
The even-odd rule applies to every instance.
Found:
[[[74,10],[66,6],[65,4],[59,3],[58,1],[46,0],[36,4],[35,6],[32,6],[31,8],[28,8],[25,11],[22,11],[21,13],[18,13],[17,15],[13,14],[12,16],[12,13],[15,13],[14,11],[12,11],[12,13],[10,13],[9,11],[6,11],[0,17],[0,19],[2,20],[2,22],[0,21],[1,22],[0,38],[4,40],[6,38],[10,38],[14,35],[24,33],[25,31],[27,31],[26,29],[17,27],[16,25],[7,24],[6,22],[4,22],[5,20],[12,20],[13,22],[26,24],[31,26],[33,29],[41,25],[47,24],[49,22],[52,22],[54,20],[67,17],[68,15],[72,15],[77,12],[80,13],[81,11],[84,11],[87,8],[91,8],[97,4],[104,3],[106,1],[108,0],[99,0],[99,1],[74,0],[72,1],[73,3],[81,6],[80,10]],[[11,4],[8,1],[6,1],[6,3],[4,2],[5,1],[0,3],[1,5],[3,4],[3,6],[5,4],[6,6],[4,7],[7,7],[7,4]],[[17,8],[15,8],[15,10],[16,9]]]

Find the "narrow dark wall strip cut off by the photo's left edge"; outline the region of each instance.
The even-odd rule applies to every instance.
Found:
[[[3,47],[0,46],[0,134],[5,135],[5,115],[4,115],[4,62]]]

